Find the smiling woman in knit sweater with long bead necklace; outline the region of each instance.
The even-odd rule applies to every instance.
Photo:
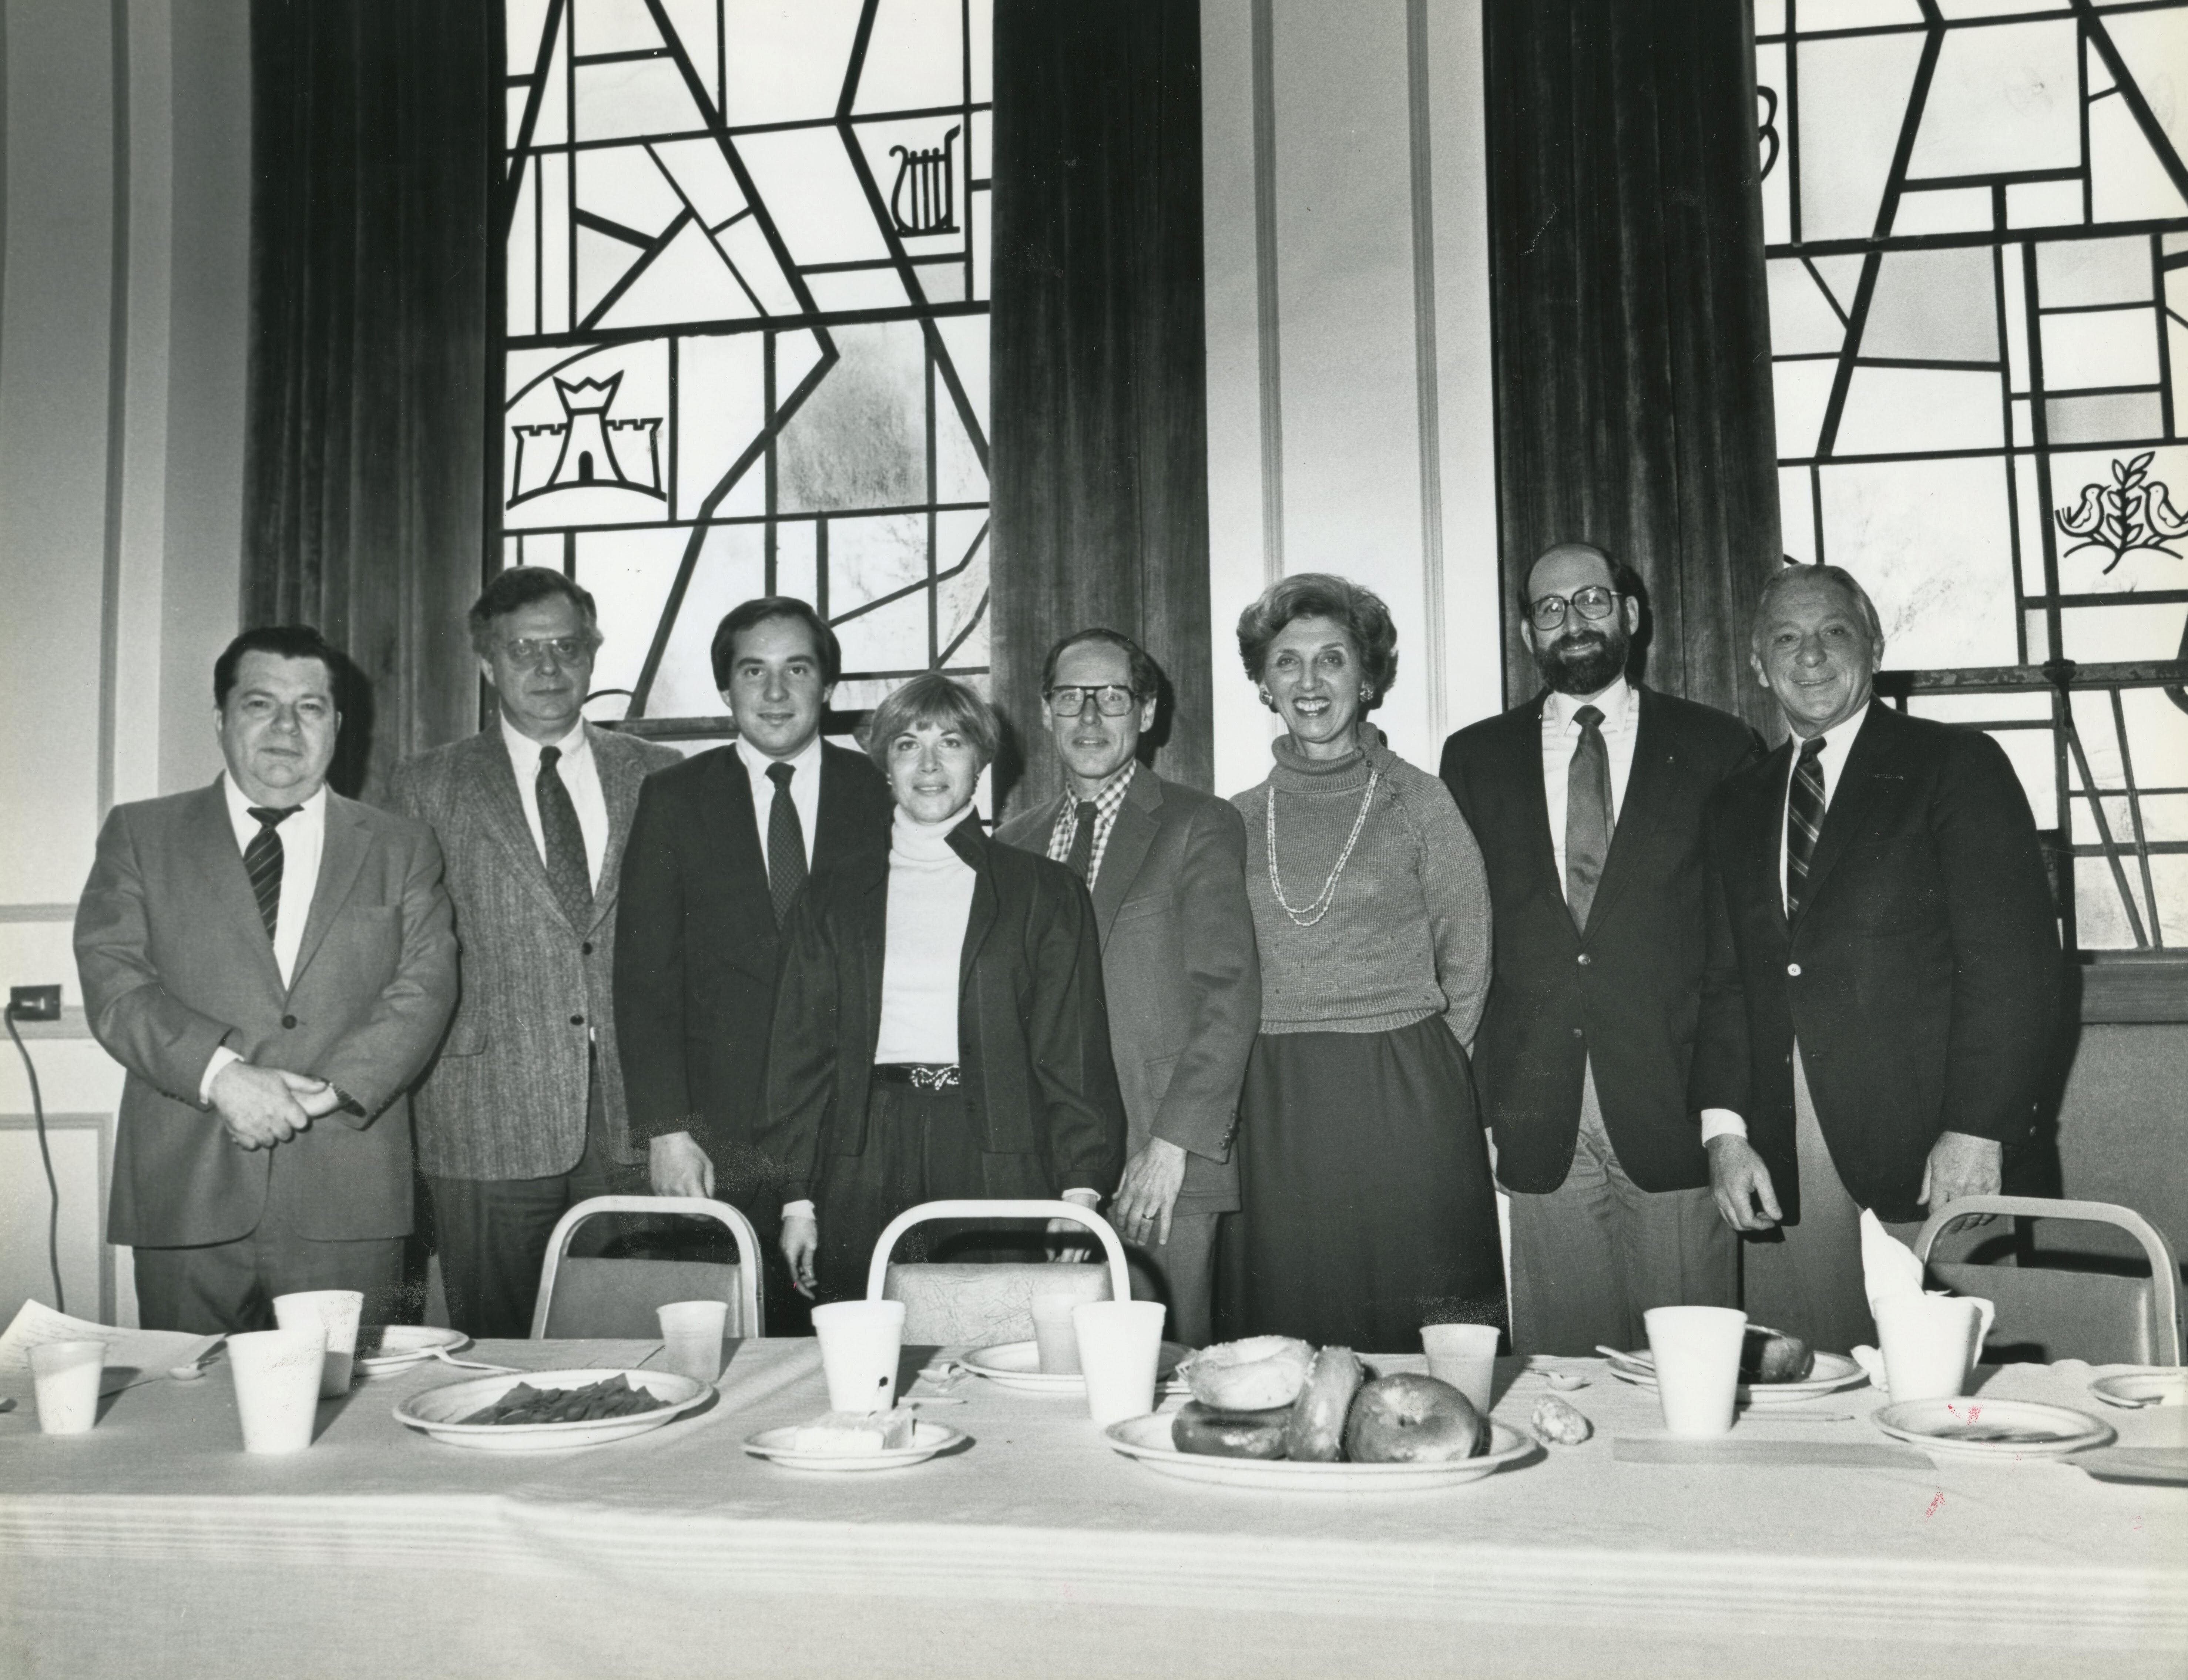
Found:
[[[1398,672],[1370,591],[1271,586],[1238,652],[1282,718],[1236,794],[1262,1017],[1241,1094],[1225,1334],[1398,1352],[1433,1321],[1503,1323],[1497,1194],[1466,1046],[1490,895],[1448,790],[1365,722]]]

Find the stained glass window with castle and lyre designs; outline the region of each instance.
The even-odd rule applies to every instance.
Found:
[[[722,733],[801,595],[840,711],[987,672],[985,0],[505,0],[501,558],[600,602],[595,718]]]

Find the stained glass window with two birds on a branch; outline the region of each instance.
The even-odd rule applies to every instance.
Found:
[[[2188,945],[2188,4],[1755,28],[1788,558],[2009,750],[2079,945]]]

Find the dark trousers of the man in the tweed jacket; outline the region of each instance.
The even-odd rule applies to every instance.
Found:
[[[597,1063],[586,1085],[584,1155],[569,1172],[543,1179],[440,1179],[429,1172],[449,1323],[466,1337],[529,1337],[556,1221],[591,1197],[645,1194],[643,1177],[641,1168],[621,1166],[608,1144]],[[597,1251],[610,1225],[591,1221],[571,1253]]]

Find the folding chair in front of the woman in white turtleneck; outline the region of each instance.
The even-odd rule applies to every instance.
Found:
[[[1070,1218],[1101,1238],[1107,1262],[891,1264],[897,1238],[930,1218]],[[906,1343],[989,1348],[1033,1341],[1035,1295],[1129,1302],[1125,1245],[1109,1221],[1074,1201],[923,1201],[888,1221],[866,1269],[869,1302],[904,1302]]]

